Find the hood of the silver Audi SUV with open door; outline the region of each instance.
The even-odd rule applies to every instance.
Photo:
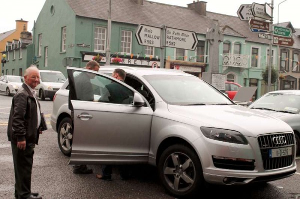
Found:
[[[196,120],[199,127],[230,129],[244,136],[256,137],[264,133],[292,131],[279,119],[239,105],[168,105],[168,110],[172,114]]]

